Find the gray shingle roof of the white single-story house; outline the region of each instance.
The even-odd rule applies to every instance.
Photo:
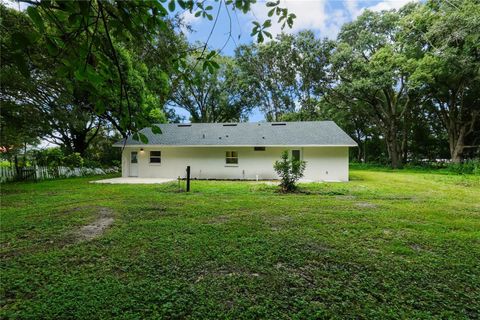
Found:
[[[148,145],[167,146],[357,146],[333,121],[259,123],[169,123],[158,125],[161,134],[141,130]],[[145,145],[132,137],[127,146]],[[123,146],[119,141],[114,146]]]

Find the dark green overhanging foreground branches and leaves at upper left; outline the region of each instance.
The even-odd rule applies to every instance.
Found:
[[[125,49],[143,47],[154,52],[161,51],[162,40],[168,38],[173,30],[169,14],[176,10],[186,10],[208,20],[214,19],[213,6],[206,5],[205,1],[170,0],[167,4],[162,1],[107,0],[24,2],[29,4],[27,13],[36,30],[18,31],[15,36],[17,50],[27,50],[42,39],[48,54],[58,64],[56,73],[87,83],[91,92],[92,112],[98,115],[115,113],[118,118],[115,123],[117,129],[125,134],[135,132],[145,124],[137,118],[135,109],[139,106],[132,101],[136,95],[131,92],[130,75],[125,70],[125,63],[128,64]],[[255,3],[254,0],[217,2],[227,10],[243,13],[247,13],[251,4]],[[278,22],[283,22],[282,27],[291,26],[295,15],[289,14],[279,4],[280,1],[266,4],[271,8],[269,17],[278,17]],[[271,37],[267,31],[270,26],[270,19],[260,27],[256,22],[252,35],[257,36],[261,42],[265,37]],[[157,47],[159,43],[160,46]],[[186,55],[182,50],[170,52],[172,67],[182,65]],[[213,72],[218,67],[212,61],[214,55],[202,55],[204,71]],[[28,62],[23,55],[18,56],[16,65],[25,76],[29,75]],[[168,78],[173,70],[166,68],[161,72],[165,73],[160,75],[161,78]],[[118,97],[118,106],[113,106],[111,99],[103,95],[105,87],[116,91],[110,97]],[[138,137],[146,139],[141,135]]]

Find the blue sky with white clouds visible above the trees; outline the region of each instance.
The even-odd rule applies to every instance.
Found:
[[[283,32],[294,34],[301,30],[312,30],[318,38],[335,39],[344,23],[353,21],[364,10],[382,11],[398,9],[412,0],[281,0],[280,7],[288,8],[297,18],[293,27],[286,27]],[[193,32],[183,30],[188,40],[192,43],[206,42],[212,50],[221,50],[224,55],[233,55],[235,48],[241,44],[248,44],[255,41],[250,36],[252,21],[263,22],[269,19],[266,1],[258,0],[252,6],[248,14],[235,14],[227,11],[224,5],[215,1],[207,1],[213,6],[212,14],[217,16],[218,21],[214,22],[205,18],[195,17],[189,12],[182,13],[184,22],[189,24]],[[222,2],[220,2],[222,3]],[[220,6],[220,8],[219,8]],[[275,16],[274,16],[275,17]],[[281,25],[272,19],[272,27],[269,32],[273,37],[282,32]],[[213,28],[214,27],[214,28]],[[213,31],[212,31],[213,29]],[[210,35],[211,33],[211,35]],[[230,36],[231,35],[231,36]],[[177,113],[186,117],[188,113],[182,109],[176,109]],[[262,121],[263,115],[255,110],[249,117],[249,121]]]

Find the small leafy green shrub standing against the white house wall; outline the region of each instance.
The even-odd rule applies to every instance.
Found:
[[[273,165],[273,169],[275,169],[275,172],[280,176],[280,187],[282,191],[291,192],[297,188],[296,182],[303,177],[305,167],[305,161],[290,159],[288,151],[283,151],[282,160],[275,161]]]

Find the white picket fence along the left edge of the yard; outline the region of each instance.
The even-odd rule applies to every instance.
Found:
[[[68,167],[28,167],[21,168],[19,174],[15,168],[0,167],[0,183],[15,180],[47,180],[68,177],[83,177],[90,175],[103,175],[118,172],[118,168],[68,168]]]

